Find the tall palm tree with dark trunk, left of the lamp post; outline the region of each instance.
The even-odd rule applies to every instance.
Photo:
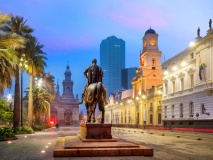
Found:
[[[27,41],[32,37],[31,33],[33,29],[29,26],[25,25],[26,21],[24,21],[23,17],[11,17],[11,21],[7,22],[7,25],[2,26],[2,30],[7,33],[17,34],[19,36],[24,37]],[[15,48],[15,47],[14,47]],[[20,59],[21,55],[25,53],[24,49],[15,48],[15,50],[19,53],[17,54]],[[15,95],[14,95],[14,120],[13,127],[14,129],[18,129],[20,122],[20,86],[19,86],[19,66],[16,64],[15,66]]]

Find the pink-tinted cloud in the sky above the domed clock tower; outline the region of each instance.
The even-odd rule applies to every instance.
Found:
[[[134,29],[147,29],[147,26],[165,27],[172,19],[172,16],[162,8],[150,8],[130,3],[124,4],[122,8],[125,9],[112,11],[107,13],[107,16],[122,26]]]

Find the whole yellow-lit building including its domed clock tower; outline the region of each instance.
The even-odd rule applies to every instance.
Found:
[[[140,68],[132,79],[132,89],[109,98],[106,122],[116,126],[162,126],[162,70],[158,34],[148,29],[142,39]]]

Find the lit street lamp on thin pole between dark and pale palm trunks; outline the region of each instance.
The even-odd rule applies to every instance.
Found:
[[[20,59],[21,68],[21,126],[23,125],[23,71],[28,68],[27,61],[25,59],[25,54],[21,55]]]

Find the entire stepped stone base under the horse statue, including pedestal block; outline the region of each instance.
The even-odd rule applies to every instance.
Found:
[[[78,136],[58,137],[54,157],[153,156],[153,149],[112,138],[111,124],[80,124]]]

